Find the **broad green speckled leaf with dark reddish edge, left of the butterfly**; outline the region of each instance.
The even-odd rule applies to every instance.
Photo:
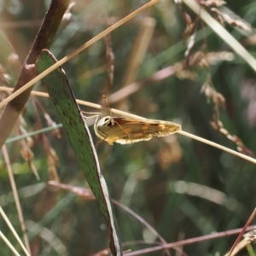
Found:
[[[49,50],[44,49],[36,63],[36,71],[42,73],[56,62],[54,55]],[[111,252],[113,255],[122,255],[117,234],[117,224],[115,223],[113,209],[108,195],[108,187],[100,170],[100,164],[90,136],[90,131],[84,122],[78,104],[75,102],[75,97],[68,83],[67,76],[63,69],[58,67],[44,77],[43,83],[47,87],[49,96],[67,131],[67,137],[73,147],[79,166],[82,168],[90,189],[96,196],[101,211],[108,222]]]

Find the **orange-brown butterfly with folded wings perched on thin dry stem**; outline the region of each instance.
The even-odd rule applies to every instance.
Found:
[[[106,116],[100,113],[94,125],[96,136],[113,143],[127,144],[148,141],[152,137],[165,137],[181,130],[181,125],[154,119],[131,119]]]

